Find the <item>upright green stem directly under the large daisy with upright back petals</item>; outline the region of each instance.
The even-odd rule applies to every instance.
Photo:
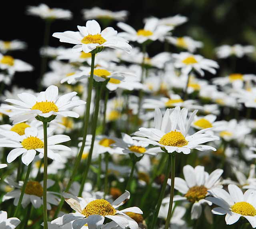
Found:
[[[164,229],[168,229],[172,217],[172,204],[173,204],[173,197],[174,197],[174,178],[175,178],[175,153],[171,153],[171,163],[172,163],[172,171],[171,171],[171,191],[170,191],[170,202],[168,208],[168,214],[165,222]]]

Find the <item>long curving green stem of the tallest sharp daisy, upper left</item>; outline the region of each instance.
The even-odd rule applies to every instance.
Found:
[[[76,175],[76,172],[78,170],[78,166],[81,162],[82,155],[83,155],[83,152],[84,152],[84,145],[85,145],[87,131],[88,131],[88,123],[89,123],[89,118],[90,118],[90,106],[91,106],[91,100],[92,100],[94,60],[95,60],[95,52],[92,52],[91,74],[90,74],[90,79],[89,79],[88,96],[87,96],[87,100],[86,100],[86,110],[85,110],[85,115],[84,115],[83,141],[82,141],[82,145],[81,145],[80,151],[78,153],[78,156],[76,158],[76,161],[75,161],[75,164],[74,164],[74,169],[73,169],[72,174],[70,176],[70,180],[68,181],[68,185],[65,189],[65,192],[67,192],[70,189],[70,186],[72,185],[72,183],[75,179],[75,175]],[[64,203],[64,198],[62,197],[61,200],[60,200],[60,203],[58,205],[58,208],[55,211],[53,219],[55,219],[58,216],[58,213],[60,212],[60,209],[62,208],[63,203]]]

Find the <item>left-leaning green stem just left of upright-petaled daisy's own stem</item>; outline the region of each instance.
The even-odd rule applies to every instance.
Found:
[[[160,192],[160,195],[159,195],[159,199],[157,201],[156,210],[154,212],[154,216],[153,216],[153,220],[152,220],[152,224],[151,224],[150,229],[154,229],[155,226],[156,226],[156,221],[157,221],[157,218],[158,218],[159,209],[161,207],[162,200],[164,198],[164,193],[165,193],[165,189],[166,189],[166,185],[167,185],[167,181],[168,181],[168,177],[169,177],[169,173],[170,173],[170,169],[171,169],[171,164],[172,164],[172,158],[171,157],[172,156],[169,153],[166,173],[165,173],[165,177],[164,177],[164,183],[162,185],[162,189],[161,189],[161,192]]]

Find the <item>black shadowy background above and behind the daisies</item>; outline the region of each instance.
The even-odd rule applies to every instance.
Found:
[[[128,10],[130,15],[126,21],[136,30],[143,28],[143,18],[158,18],[182,14],[188,22],[176,28],[174,36],[192,36],[204,42],[204,48],[198,52],[207,58],[213,58],[213,48],[221,44],[253,44],[256,45],[256,1],[255,0],[143,0],[143,1],[4,1],[1,2],[1,40],[19,39],[28,43],[25,51],[13,52],[14,58],[20,58],[35,67],[33,72],[16,73],[14,84],[25,88],[37,88],[36,82],[40,74],[39,48],[43,44],[44,20],[26,15],[26,7],[45,3],[51,8],[69,9],[73,13],[72,20],[56,20],[52,23],[51,34],[66,30],[76,31],[77,25],[85,25],[82,19],[83,8],[100,8],[113,11]],[[116,28],[116,22],[112,25]],[[117,28],[116,28],[117,29]],[[120,30],[118,30],[120,31]],[[57,38],[50,37],[50,46],[72,47],[72,44],[60,43]],[[163,44],[154,42],[149,47],[150,55],[163,51]],[[172,48],[172,52],[177,52]],[[231,60],[218,60],[222,68],[228,67]],[[242,58],[236,61],[236,72],[256,73],[254,58]],[[221,71],[218,72],[220,74]],[[211,77],[208,75],[208,77]]]

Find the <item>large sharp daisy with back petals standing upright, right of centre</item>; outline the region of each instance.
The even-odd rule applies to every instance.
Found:
[[[202,129],[193,135],[188,135],[188,130],[196,112],[197,110],[192,113],[187,121],[188,109],[186,108],[182,108],[182,110],[180,110],[180,107],[167,109],[164,116],[162,116],[160,109],[157,108],[155,109],[154,128],[141,127],[139,131],[134,133],[134,135],[140,137],[132,138],[151,145],[164,147],[168,153],[176,151],[188,154],[191,149],[199,151],[211,149],[216,151],[214,147],[203,145],[208,141],[219,139],[216,136],[205,133],[209,128]]]

